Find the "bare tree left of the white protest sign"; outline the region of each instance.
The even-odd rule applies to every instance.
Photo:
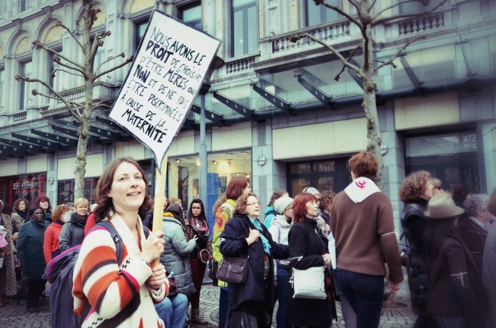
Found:
[[[79,130],[78,130],[78,144],[77,144],[77,152],[76,152],[76,169],[74,170],[74,178],[75,178],[75,186],[74,186],[74,198],[79,198],[84,196],[84,177],[86,172],[86,147],[88,142],[88,130],[90,128],[90,124],[92,121],[92,112],[94,108],[106,106],[110,107],[105,101],[100,101],[99,103],[94,103],[93,101],[93,87],[96,79],[104,76],[118,68],[122,68],[128,63],[132,62],[132,57],[125,59],[122,63],[110,68],[108,70],[101,70],[103,65],[109,61],[112,61],[118,57],[125,57],[124,52],[121,54],[117,54],[114,57],[103,61],[100,65],[94,68],[96,52],[97,50],[103,46],[103,39],[105,37],[110,36],[110,31],[104,31],[96,33],[94,36],[94,40],[91,40],[91,29],[94,22],[97,19],[97,15],[101,10],[99,8],[95,8],[96,3],[90,0],[83,0],[83,21],[82,24],[79,21],[76,21],[76,25],[80,28],[81,35],[76,35],[72,30],[61,21],[56,23],[57,26],[60,26],[65,31],[67,31],[72,39],[76,41],[77,45],[83,52],[83,63],[78,63],[76,60],[71,59],[70,57],[57,52],[56,50],[48,47],[47,45],[41,43],[40,41],[33,41],[32,44],[37,49],[43,49],[50,56],[55,63],[59,64],[59,68],[55,68],[51,72],[52,78],[58,72],[64,72],[66,74],[71,74],[74,76],[81,76],[84,80],[84,91],[85,91],[85,99],[84,103],[77,103],[76,101],[70,101],[66,99],[63,94],[54,90],[52,85],[47,81],[43,81],[41,79],[32,79],[26,76],[16,75],[15,79],[17,81],[23,80],[26,82],[37,82],[41,85],[44,85],[45,88],[48,88],[50,92],[43,93],[38,90],[32,90],[32,94],[34,96],[41,95],[45,96],[49,99],[56,99],[57,101],[61,101],[64,103],[67,110],[70,112],[74,118],[79,121]]]

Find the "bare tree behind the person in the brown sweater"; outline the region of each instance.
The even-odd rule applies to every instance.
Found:
[[[395,7],[400,6],[403,3],[417,2],[417,3],[422,3],[423,6],[428,6],[430,4],[430,0],[400,0],[400,1],[393,0],[392,5],[385,6],[383,8],[377,8],[376,10],[373,10],[373,8],[376,5],[376,3],[378,3],[377,0],[348,0],[350,5],[356,9],[357,14],[350,14],[350,12],[345,12],[339,7],[330,5],[325,0],[313,0],[313,1],[316,3],[317,6],[326,6],[327,8],[330,8],[335,12],[338,12],[343,17],[346,17],[347,19],[349,19],[349,21],[357,25],[362,34],[362,44],[358,45],[358,47],[355,48],[353,52],[351,52],[348,58],[344,58],[344,56],[340,54],[338,50],[333,48],[332,45],[329,45],[324,41],[321,41],[320,39],[313,37],[313,35],[309,33],[296,34],[291,38],[291,41],[296,42],[299,39],[307,37],[315,41],[316,43],[320,43],[325,48],[330,50],[336,57],[338,57],[338,59],[340,59],[340,61],[342,61],[343,63],[343,68],[341,72],[337,76],[335,76],[336,81],[339,80],[340,74],[344,71],[344,68],[349,68],[350,70],[357,72],[357,74],[362,79],[362,84],[364,88],[364,100],[362,102],[362,107],[364,109],[366,122],[367,122],[367,139],[368,139],[367,150],[373,153],[375,157],[377,157],[378,159],[379,170],[375,182],[378,184],[380,189],[384,189],[384,185],[382,183],[383,163],[382,163],[382,154],[380,150],[381,136],[379,130],[377,105],[375,103],[375,91],[377,89],[377,85],[375,83],[373,74],[377,70],[383,68],[386,65],[392,64],[394,67],[393,64],[394,59],[400,56],[402,51],[404,51],[406,47],[408,47],[411,43],[417,41],[418,39],[423,39],[424,37],[422,36],[422,37],[416,37],[410,39],[402,46],[402,48],[400,48],[400,50],[398,50],[398,52],[393,57],[391,57],[391,59],[389,59],[389,61],[374,66],[373,65],[373,53],[374,53],[373,28],[376,25],[380,25],[382,23],[386,23],[394,19],[425,17],[426,15],[431,14],[431,12],[442,6],[442,4],[448,0],[441,0],[436,6],[431,8],[431,10],[425,10],[414,14],[395,14],[390,17],[384,17],[384,13],[388,12],[389,10],[393,10]],[[353,63],[350,62],[355,52],[357,52],[357,50],[359,50],[360,48],[362,48],[361,67],[359,67],[358,65],[353,65]]]

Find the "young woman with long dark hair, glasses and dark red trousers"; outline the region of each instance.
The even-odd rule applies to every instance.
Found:
[[[189,297],[192,304],[191,321],[197,325],[208,325],[208,322],[200,316],[200,289],[207,269],[207,261],[209,260],[207,250],[209,247],[207,244],[210,233],[207,216],[205,216],[205,206],[201,199],[195,198],[189,204],[185,228],[188,240],[192,240],[195,236],[198,238],[196,240],[196,250],[189,256],[189,265],[191,266],[193,283],[196,289],[196,292]]]

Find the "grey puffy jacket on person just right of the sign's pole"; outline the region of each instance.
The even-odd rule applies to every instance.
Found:
[[[193,285],[189,254],[194,251],[196,241],[194,239],[186,241],[183,225],[176,218],[166,216],[167,214],[164,214],[162,225],[165,245],[161,263],[168,274],[174,272],[179,293],[191,296],[196,289]]]

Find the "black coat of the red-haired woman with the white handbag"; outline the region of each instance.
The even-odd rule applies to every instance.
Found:
[[[291,267],[308,269],[324,265],[322,255],[329,253],[328,241],[317,233],[316,221],[305,218],[303,223],[293,223],[288,240]],[[300,256],[302,258],[299,258]],[[289,325],[330,326],[332,324],[334,300],[293,298],[292,287],[289,290]]]

